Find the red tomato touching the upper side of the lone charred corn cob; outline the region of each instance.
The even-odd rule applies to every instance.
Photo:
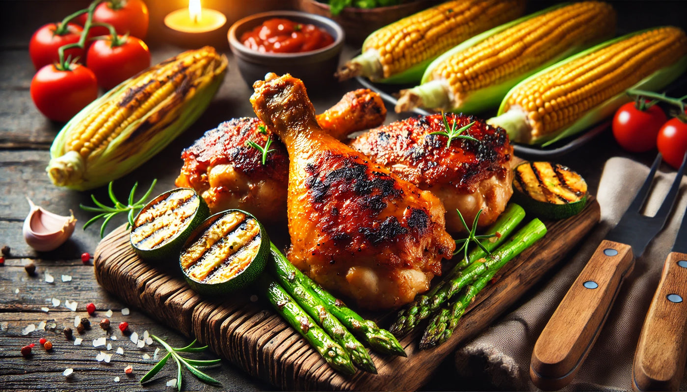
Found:
[[[143,41],[133,36],[114,47],[111,38],[98,40],[88,49],[86,65],[95,73],[100,87],[109,90],[150,67],[150,51]]]

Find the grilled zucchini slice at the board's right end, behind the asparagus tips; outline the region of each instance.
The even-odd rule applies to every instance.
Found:
[[[558,163],[525,162],[515,168],[513,201],[547,219],[565,219],[587,204],[587,183]]]

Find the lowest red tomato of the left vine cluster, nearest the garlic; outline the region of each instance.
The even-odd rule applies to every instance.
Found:
[[[53,121],[66,122],[97,97],[93,71],[80,64],[71,65],[67,71],[46,65],[31,80],[34,104]]]

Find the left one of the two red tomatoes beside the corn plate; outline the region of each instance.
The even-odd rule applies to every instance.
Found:
[[[656,147],[658,130],[666,119],[666,113],[657,105],[640,111],[635,102],[628,102],[620,106],[613,117],[613,136],[625,150],[649,151]]]

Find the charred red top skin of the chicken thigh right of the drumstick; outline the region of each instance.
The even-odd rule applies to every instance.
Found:
[[[440,114],[412,117],[376,128],[352,141],[351,146],[377,163],[385,165],[408,181],[431,189],[451,185],[471,191],[477,183],[507,170],[513,148],[502,128],[493,128],[473,116],[447,114],[449,126],[456,128],[475,122],[464,135],[479,142],[429,135],[446,128]]]

